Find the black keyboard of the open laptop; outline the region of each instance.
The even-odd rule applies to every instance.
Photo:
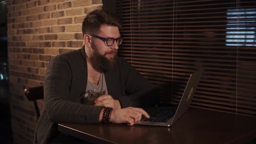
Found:
[[[167,122],[171,117],[174,116],[176,110],[174,109],[160,109],[150,118],[145,119],[144,121],[152,122]]]

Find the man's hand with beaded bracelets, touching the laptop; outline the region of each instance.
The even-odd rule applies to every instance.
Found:
[[[149,118],[149,115],[142,108],[123,108],[118,110],[113,110],[110,118],[110,122],[120,124],[126,123],[128,125],[133,125],[135,122],[141,120],[141,116],[144,115]]]

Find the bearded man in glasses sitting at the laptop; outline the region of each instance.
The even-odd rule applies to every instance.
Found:
[[[157,91],[117,56],[123,41],[119,29],[121,24],[114,15],[94,10],[82,23],[85,45],[49,62],[44,80],[45,107],[36,127],[36,143],[77,142],[57,130],[61,122],[133,125],[142,115],[149,118],[141,107],[158,104]],[[105,89],[105,95],[95,99],[95,105],[88,105],[84,93],[92,88]],[[108,110],[108,115],[104,114]]]

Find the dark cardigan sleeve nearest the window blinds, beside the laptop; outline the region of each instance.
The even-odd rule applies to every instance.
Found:
[[[122,59],[121,67],[126,94],[118,97],[121,108],[157,105],[159,103],[158,89],[125,59]]]

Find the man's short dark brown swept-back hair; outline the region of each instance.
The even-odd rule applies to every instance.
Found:
[[[86,33],[97,33],[102,25],[117,26],[119,29],[122,29],[118,18],[114,14],[104,10],[93,10],[83,21],[83,36]]]

